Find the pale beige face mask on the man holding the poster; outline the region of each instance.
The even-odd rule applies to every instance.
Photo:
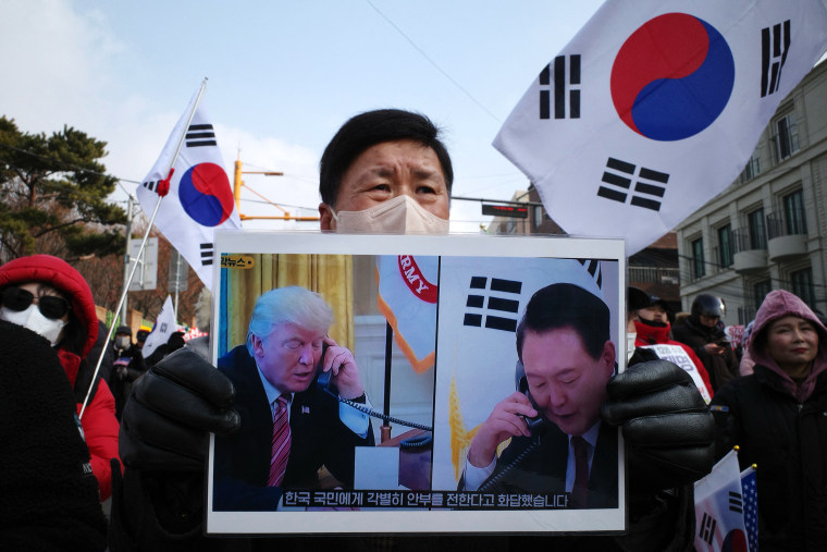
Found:
[[[337,232],[368,232],[375,234],[447,234],[448,221],[427,211],[408,195],[361,211],[331,209]]]

